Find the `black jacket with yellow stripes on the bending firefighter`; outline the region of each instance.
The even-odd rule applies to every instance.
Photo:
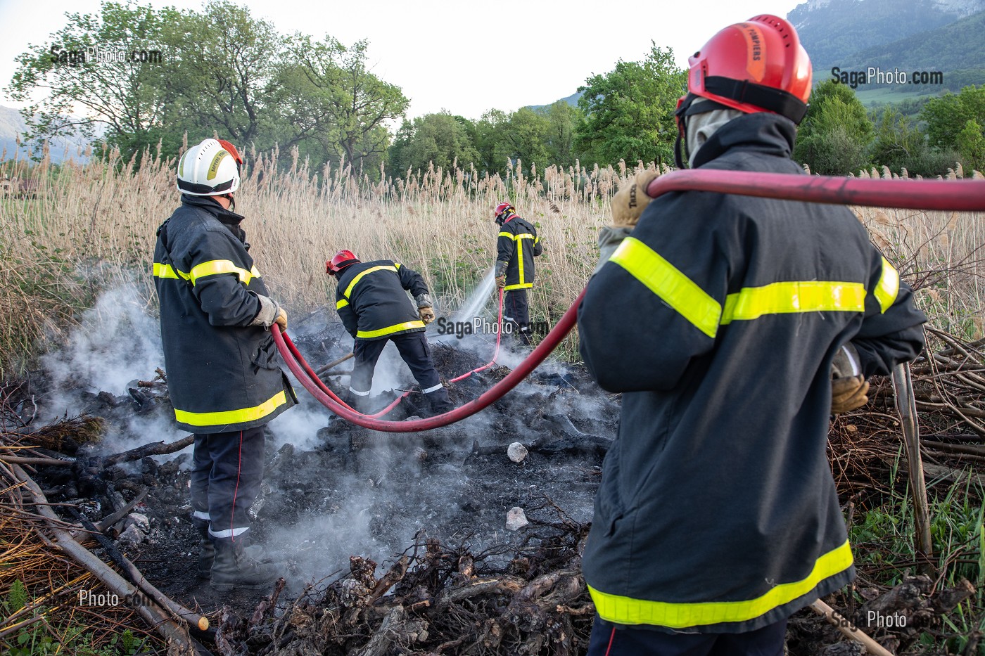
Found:
[[[418,304],[408,297],[410,292]],[[346,267],[339,275],[335,307],[354,339],[382,340],[421,332],[417,307],[430,304],[424,278],[400,262],[377,260]]]

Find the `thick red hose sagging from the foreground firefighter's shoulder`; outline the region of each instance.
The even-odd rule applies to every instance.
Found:
[[[867,205],[903,209],[985,211],[985,180],[878,180],[788,173],[758,173],[731,170],[681,170],[661,175],[647,187],[647,195],[670,191],[713,191],[761,198]],[[298,353],[291,338],[277,324],[271,326],[277,348],[300,383],[319,402],[339,417],[358,426],[387,432],[418,432],[447,426],[478,413],[513,389],[552,351],[574,327],[578,305],[585,295],[574,299],[554,329],[524,361],[505,378],[483,392],[479,398],[452,411],[424,420],[386,422],[361,415],[342,403],[319,380],[314,370]],[[398,399],[399,400],[399,399]],[[381,413],[377,413],[380,415]]]

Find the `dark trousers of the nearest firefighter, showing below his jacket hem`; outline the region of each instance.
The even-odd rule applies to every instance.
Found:
[[[747,633],[665,633],[595,618],[588,656],[783,656],[787,621]]]

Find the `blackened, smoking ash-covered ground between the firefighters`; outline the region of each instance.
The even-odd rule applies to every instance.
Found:
[[[348,346],[338,324],[295,342],[314,367],[344,355]],[[484,336],[439,341],[430,348],[442,380],[481,366],[493,353]],[[398,387],[374,397],[380,408],[401,389],[414,387],[406,365],[391,350],[389,345],[377,365],[374,393],[381,381],[384,387],[394,382]],[[527,353],[504,344],[498,361],[515,363]],[[476,398],[508,372],[493,366],[454,383],[452,401],[461,405]],[[341,394],[348,375],[333,376],[329,386]],[[268,426],[264,483],[251,509],[255,521],[249,532],[268,558],[288,566],[288,595],[348,570],[352,556],[372,558],[383,567],[425,538],[474,552],[495,546],[505,553],[528,538],[525,529],[507,530],[513,507],[524,508],[534,525],[538,519],[555,521],[557,508],[587,524],[602,458],[619,421],[616,398],[583,369],[554,363],[542,365],[481,413],[417,433],[354,426],[335,418],[299,385],[296,390],[300,405]],[[130,392],[131,398],[115,400],[111,394],[83,393],[78,400],[83,412],[106,417],[110,432],[113,426],[116,432],[134,426],[128,414],[135,411],[143,422],[166,423],[173,416],[164,385],[142,387],[140,393],[140,398]],[[423,415],[421,396],[411,394],[384,419]],[[160,437],[143,434],[135,443],[154,439]],[[513,442],[529,450],[522,463],[507,456]],[[198,536],[189,519],[189,466],[190,449],[103,474],[127,498],[132,496],[128,489],[150,491],[137,507],[150,517],[150,534],[128,551],[149,580],[186,606],[212,612],[230,603],[248,613],[262,593],[217,593],[196,577]],[[107,511],[94,507],[94,519]]]

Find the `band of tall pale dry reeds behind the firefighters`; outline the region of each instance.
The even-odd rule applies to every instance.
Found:
[[[595,266],[608,198],[634,174],[625,165],[540,171],[518,163],[504,176],[455,166],[372,182],[349,166],[310,170],[296,154],[251,153],[249,161],[236,211],[246,217],[257,268],[294,316],[331,300],[324,262],[341,248],[421,271],[439,314],[449,312],[493,265],[492,208],[509,199],[545,242],[532,308],[535,319],[553,322]],[[45,337],[57,339],[106,286],[136,282],[153,309],[155,231],[179,194],[173,161],[145,153],[136,164],[116,154],[86,165],[0,164],[0,176],[38,181],[36,198],[0,198],[0,360],[7,366],[42,348]],[[935,316],[980,332],[982,215],[858,214],[904,276],[926,287],[919,298]],[[923,275],[931,270],[944,273]]]

